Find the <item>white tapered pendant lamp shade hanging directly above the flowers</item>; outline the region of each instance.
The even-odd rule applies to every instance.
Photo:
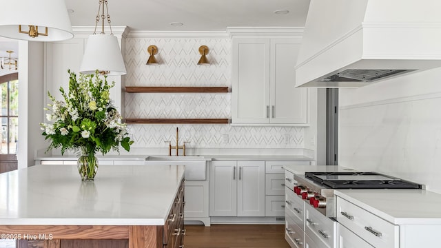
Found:
[[[89,36],[80,72],[95,74],[96,70],[107,71],[107,75],[125,75],[127,73],[118,39],[111,34]]]

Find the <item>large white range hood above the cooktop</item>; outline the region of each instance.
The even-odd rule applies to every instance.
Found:
[[[360,87],[441,66],[440,0],[311,0],[296,87]]]

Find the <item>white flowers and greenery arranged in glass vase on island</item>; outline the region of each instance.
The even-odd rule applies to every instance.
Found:
[[[107,83],[107,76],[102,80],[98,72],[95,75],[79,74],[78,77],[70,70],[68,73],[69,92],[60,87],[64,101],[57,101],[48,92],[52,101],[48,106],[52,109],[45,108],[50,111],[46,114],[48,123],[40,124],[43,136],[50,140],[48,150],[61,148],[61,154],[64,154],[67,149],[80,149],[83,156],[91,159],[96,152],[106,154],[110,149],[119,152],[119,145],[130,151],[133,141],[130,141],[126,125],[110,99],[109,90],[115,83]],[[84,173],[92,176],[92,169]]]

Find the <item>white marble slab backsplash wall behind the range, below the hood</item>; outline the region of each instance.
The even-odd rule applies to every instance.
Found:
[[[340,165],[441,193],[441,68],[340,89]]]

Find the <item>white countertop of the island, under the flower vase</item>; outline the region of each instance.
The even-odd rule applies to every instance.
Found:
[[[1,225],[164,225],[181,165],[102,165],[82,182],[76,165],[0,174]]]

